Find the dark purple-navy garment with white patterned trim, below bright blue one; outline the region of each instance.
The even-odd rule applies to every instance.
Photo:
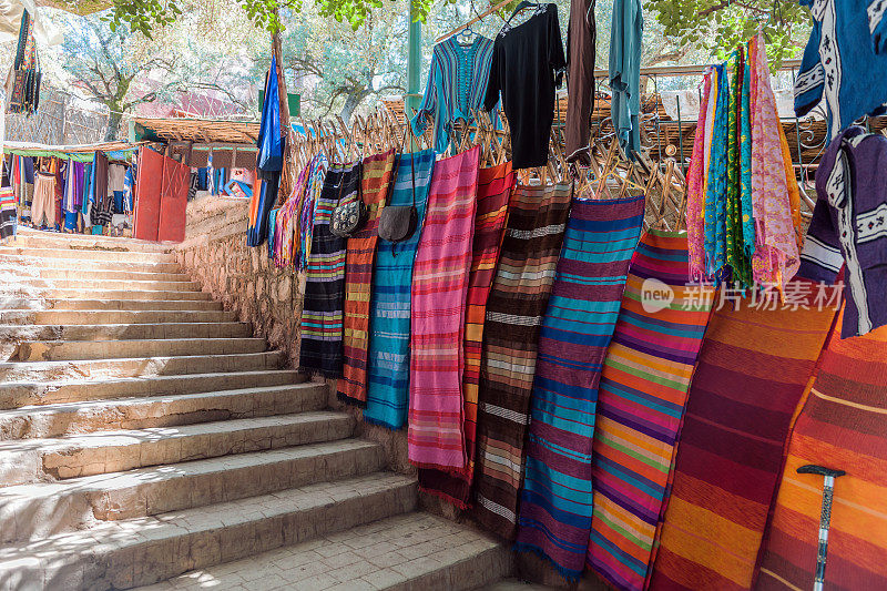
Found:
[[[887,137],[850,126],[828,145],[799,275],[834,283],[843,265],[844,338],[887,324]]]

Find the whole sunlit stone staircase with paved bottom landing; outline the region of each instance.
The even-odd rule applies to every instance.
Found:
[[[473,589],[510,553],[417,512],[169,246],[0,246],[0,590]]]

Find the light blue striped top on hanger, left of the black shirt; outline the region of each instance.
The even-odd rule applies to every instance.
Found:
[[[459,43],[457,35],[435,45],[425,94],[410,122],[419,136],[428,126],[426,115],[434,118],[435,152],[447,150],[453,123],[472,122],[471,111],[481,108],[490,78],[492,47],[492,40],[481,35],[470,45]],[[498,110],[493,112],[495,122],[497,113]]]

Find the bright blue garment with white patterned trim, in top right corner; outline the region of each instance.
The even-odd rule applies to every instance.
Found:
[[[813,30],[795,79],[795,112],[807,114],[825,99],[830,141],[863,115],[884,113],[887,102],[887,23],[881,0],[801,0]]]

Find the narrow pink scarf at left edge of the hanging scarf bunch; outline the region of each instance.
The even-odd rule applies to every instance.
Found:
[[[712,92],[712,72],[706,72],[702,81],[702,101],[700,102],[696,134],[693,137],[693,156],[690,159],[690,171],[686,177],[686,233],[690,252],[690,277],[701,282],[705,275],[705,179],[708,175],[707,143],[705,135],[708,113],[708,99]]]

